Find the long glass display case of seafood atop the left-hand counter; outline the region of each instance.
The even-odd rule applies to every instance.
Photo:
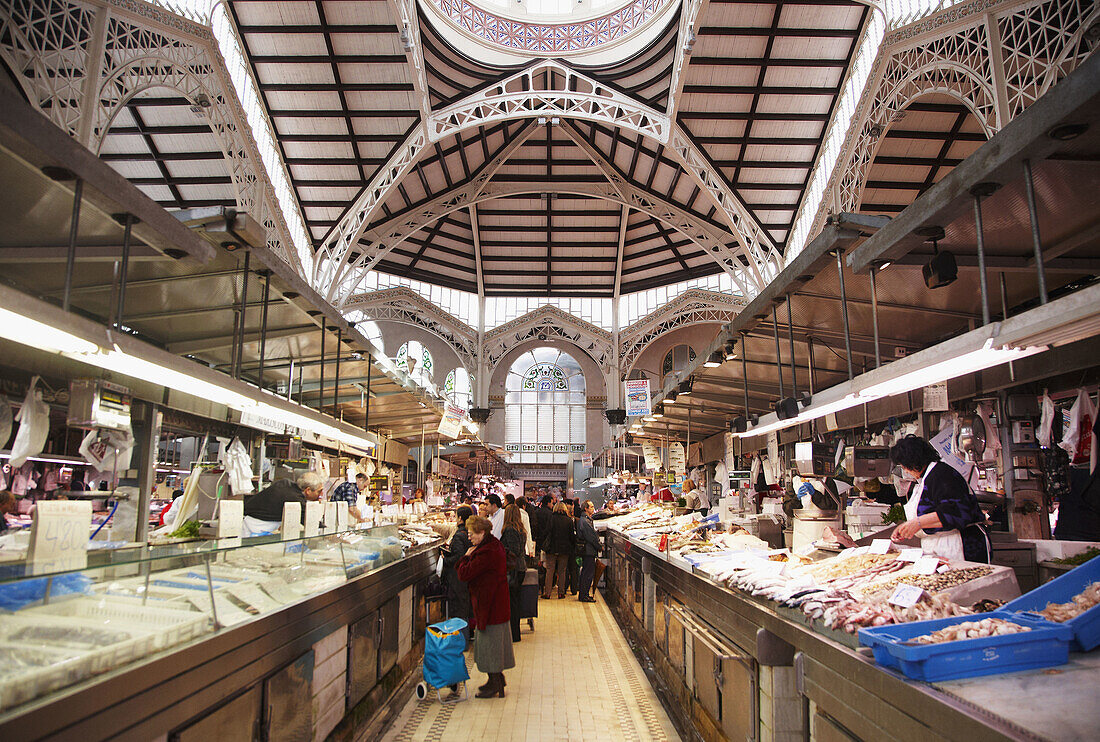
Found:
[[[378,525],[91,552],[68,572],[0,565],[0,715],[339,587],[427,547],[415,535]]]

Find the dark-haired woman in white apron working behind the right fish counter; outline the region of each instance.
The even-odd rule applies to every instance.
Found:
[[[916,435],[895,443],[890,458],[916,479],[905,502],[905,522],[891,539],[919,538],[926,554],[988,564],[990,544],[981,525],[986,516],[963,475],[939,461],[936,450]]]

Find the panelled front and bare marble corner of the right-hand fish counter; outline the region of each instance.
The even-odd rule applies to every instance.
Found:
[[[798,611],[656,557],[616,529],[606,533],[607,601],[651,661],[656,685],[703,739],[1072,739],[1067,730],[1085,707],[1060,676],[1035,671],[912,682],[877,665],[850,635],[815,628]],[[1066,672],[1079,677],[1090,663],[1088,655],[1071,655]],[[751,682],[715,694],[713,684],[728,685],[743,675]],[[985,684],[1015,689],[1015,702],[983,704]],[[1021,702],[1028,694],[1020,689],[1034,685],[1043,686],[1044,698],[1060,705],[1070,721],[1044,728],[1042,718],[1030,713],[1031,704]],[[1043,718],[1052,713],[1047,709]]]

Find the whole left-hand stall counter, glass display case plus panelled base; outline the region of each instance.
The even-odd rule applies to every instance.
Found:
[[[415,665],[437,557],[381,525],[116,550],[69,572],[9,563],[0,652],[24,662],[0,667],[0,739],[323,738]]]

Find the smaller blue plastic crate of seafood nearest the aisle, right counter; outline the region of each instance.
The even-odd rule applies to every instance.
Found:
[[[1026,625],[1031,631],[942,644],[904,643],[944,627],[993,617]],[[875,651],[876,662],[927,683],[1063,665],[1069,661],[1071,639],[1068,627],[1001,611],[859,630],[859,641]]]

